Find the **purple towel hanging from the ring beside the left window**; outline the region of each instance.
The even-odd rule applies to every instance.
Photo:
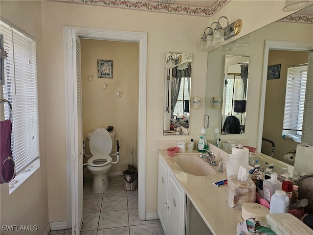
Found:
[[[12,122],[0,121],[0,175],[1,184],[8,183],[15,177],[15,164],[11,149]]]

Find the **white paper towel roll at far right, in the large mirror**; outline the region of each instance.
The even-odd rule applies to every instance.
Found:
[[[294,170],[297,172],[306,172],[307,175],[313,174],[313,146],[298,144],[295,160]]]

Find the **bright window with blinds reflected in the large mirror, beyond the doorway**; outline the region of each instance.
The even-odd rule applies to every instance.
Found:
[[[291,134],[299,141],[302,135],[304,102],[308,65],[289,67],[287,70],[283,135]]]

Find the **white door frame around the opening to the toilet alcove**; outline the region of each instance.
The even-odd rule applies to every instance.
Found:
[[[76,63],[70,59],[68,47],[71,42],[68,35],[69,30],[75,30],[76,35],[80,38],[98,39],[120,42],[138,42],[139,43],[139,99],[138,99],[138,217],[139,220],[146,220],[146,94],[147,94],[147,33],[131,32],[108,29],[94,29],[83,27],[64,26],[64,56],[65,56],[65,107],[66,107],[66,147],[67,147],[67,227],[71,228],[71,198],[72,183],[71,182],[71,162],[72,153],[71,146],[75,140],[73,133],[73,104],[76,94],[71,89],[73,83],[73,75],[70,72],[71,67],[76,67]],[[72,63],[72,64],[71,64]]]

